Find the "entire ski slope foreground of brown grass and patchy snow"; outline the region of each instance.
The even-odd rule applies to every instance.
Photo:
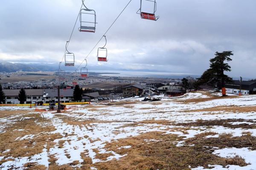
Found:
[[[0,169],[256,170],[256,95],[0,108]]]

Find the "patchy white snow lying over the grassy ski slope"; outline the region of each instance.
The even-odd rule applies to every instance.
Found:
[[[163,96],[159,96],[163,97]],[[179,97],[179,100],[186,99],[198,99],[198,98],[209,98],[209,96],[203,93],[188,93],[182,97]],[[250,96],[238,96],[235,98],[220,98],[206,100],[205,102],[191,102],[191,103],[182,103],[176,102],[177,99],[163,99],[162,101],[157,102],[141,102],[143,98],[135,98],[135,100],[126,99],[128,101],[136,101],[134,104],[125,104],[125,105],[90,105],[89,106],[79,106],[78,108],[73,108],[68,111],[65,111],[61,114],[56,114],[53,112],[33,112],[31,109],[28,109],[29,113],[41,114],[41,117],[47,119],[45,125],[53,125],[55,130],[49,132],[51,134],[59,133],[61,134],[61,139],[55,139],[55,146],[51,147],[49,150],[44,149],[40,154],[36,154],[32,157],[4,157],[7,155],[9,150],[12,148],[6,148],[5,152],[1,154],[0,160],[2,159],[13,159],[6,161],[0,165],[2,170],[7,170],[11,165],[14,165],[17,169],[23,169],[23,164],[27,162],[37,162],[37,164],[42,164],[48,167],[49,164],[49,155],[55,155],[56,163],[58,165],[69,164],[73,161],[79,161],[80,164],[77,164],[75,167],[80,167],[81,162],[83,161],[80,153],[87,151],[88,156],[92,159],[93,163],[99,161],[109,161],[112,159],[120,159],[124,155],[119,155],[113,151],[107,151],[104,149],[106,142],[113,142],[117,139],[127,138],[130,136],[138,136],[142,133],[152,132],[152,131],[162,131],[165,134],[176,134],[178,136],[184,136],[183,140],[177,141],[176,146],[183,146],[185,139],[194,137],[197,134],[204,132],[215,132],[218,134],[221,133],[232,133],[233,136],[242,136],[244,131],[251,132],[252,136],[256,136],[256,129],[243,129],[239,128],[230,128],[223,126],[210,126],[210,127],[194,127],[193,129],[187,130],[186,133],[183,133],[183,130],[178,128],[181,126],[164,125],[161,123],[143,123],[141,121],[145,120],[169,120],[176,123],[186,123],[194,122],[197,120],[220,120],[220,119],[244,119],[243,122],[229,122],[230,125],[240,125],[248,124],[253,125],[252,121],[256,120],[256,112],[227,112],[227,111],[196,111],[198,109],[206,109],[213,107],[221,106],[255,106],[256,107],[256,95]],[[123,101],[123,100],[122,100]],[[95,108],[93,108],[95,106]],[[1,110],[18,110],[20,108],[1,108]],[[27,109],[27,108],[26,108]],[[83,122],[88,120],[93,120],[90,123],[84,123],[81,125],[72,125],[64,122],[61,119],[61,116],[64,118],[75,120],[77,122]],[[0,118],[0,133],[5,133],[6,126],[11,126],[17,121],[23,121],[27,117],[22,115],[6,116]],[[28,118],[29,119],[29,118]],[[250,122],[247,122],[247,120]],[[137,126],[132,126],[132,123],[139,122]],[[141,122],[141,123],[140,123]],[[256,122],[255,122],[256,123]],[[16,129],[16,131],[23,131],[23,129]],[[218,137],[206,136],[210,137]],[[40,134],[38,134],[40,135]],[[32,139],[38,135],[25,135],[20,136],[17,140],[23,139]],[[85,137],[86,136],[86,137]],[[3,139],[4,140],[4,139]],[[58,147],[58,142],[64,140],[63,147]],[[124,149],[128,149],[131,146],[122,146]],[[99,150],[99,153],[109,153],[111,152],[113,156],[109,156],[107,160],[96,159],[96,152],[94,149]],[[233,150],[233,151],[232,151]],[[70,156],[66,156],[69,154]],[[250,162],[250,165],[246,167],[238,167],[230,165],[229,167],[222,167],[220,165],[214,165],[211,170],[256,170],[256,151],[250,150],[250,148],[225,148],[221,150],[215,150],[213,154],[216,154],[221,157],[228,156],[241,156],[245,159],[246,162]],[[212,165],[213,166],[213,165]],[[93,167],[92,167],[93,168]],[[203,170],[204,168],[209,167],[197,167],[193,170]],[[211,167],[212,168],[212,167]],[[205,169],[204,169],[205,170]]]

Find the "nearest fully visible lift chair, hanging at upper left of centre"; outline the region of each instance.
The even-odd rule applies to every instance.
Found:
[[[80,10],[80,14],[79,14],[80,27],[78,29],[79,29],[80,32],[93,32],[93,33],[95,33],[95,30],[96,30],[96,13],[93,9],[88,9],[84,5],[84,0],[82,0],[82,3],[83,3],[84,8],[81,8],[81,10]],[[94,16],[94,19],[92,21],[84,21],[83,20],[84,16],[87,16],[87,17]]]

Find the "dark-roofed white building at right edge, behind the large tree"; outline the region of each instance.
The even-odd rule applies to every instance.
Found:
[[[233,80],[233,82],[226,83],[226,92],[230,94],[239,94],[240,80]],[[256,94],[256,81],[242,81],[241,94],[249,95]]]

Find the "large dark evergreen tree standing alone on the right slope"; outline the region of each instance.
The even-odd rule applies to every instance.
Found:
[[[199,84],[218,85],[221,84],[222,95],[226,96],[225,82],[232,82],[232,78],[224,74],[224,71],[231,71],[230,65],[225,61],[232,61],[232,51],[216,52],[215,57],[210,59],[210,68],[198,79]]]

